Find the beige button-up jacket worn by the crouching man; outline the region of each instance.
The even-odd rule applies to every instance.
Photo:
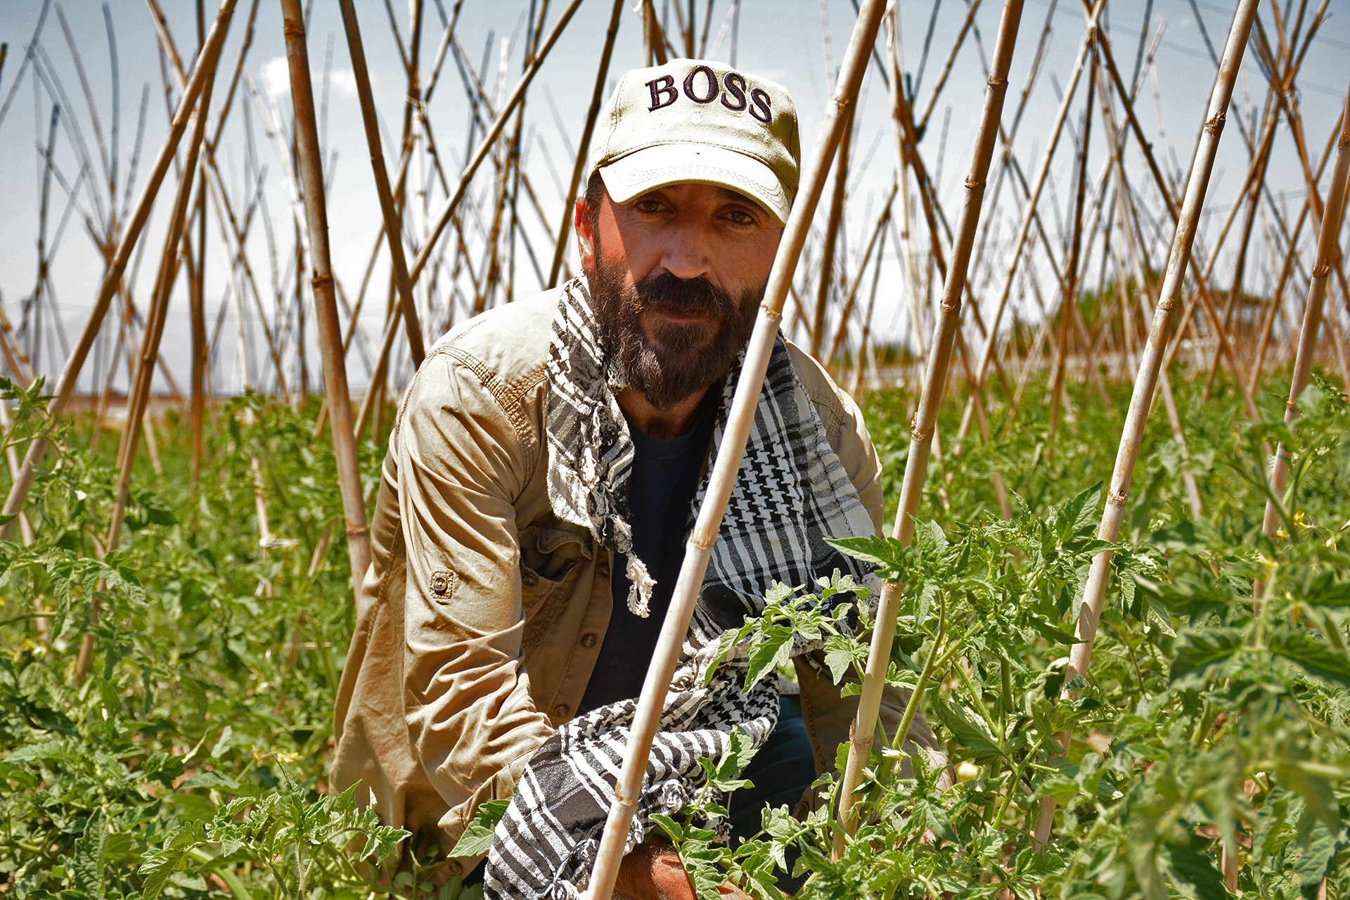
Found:
[[[371,522],[332,783],[362,783],[386,824],[427,831],[447,850],[481,803],[512,795],[535,749],[575,714],[613,607],[613,555],[560,522],[545,491],[558,296],[478,316],[427,354],[389,439]],[[880,525],[880,464],[861,414],[819,364],[790,352]],[[841,699],[805,663],[796,672],[817,770],[833,769],[856,698]],[[900,712],[892,694],[882,711],[891,731]],[[923,723],[913,737],[932,745]]]

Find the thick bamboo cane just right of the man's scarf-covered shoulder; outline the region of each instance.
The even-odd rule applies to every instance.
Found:
[[[1007,92],[1007,73],[1013,62],[1013,49],[1017,45],[1018,26],[1022,19],[1021,0],[1007,0],[999,22],[998,39],[994,49],[994,72],[988,80],[984,96],[984,109],[980,115],[980,130],[975,155],[971,161],[971,174],[965,179],[965,204],[961,206],[961,220],[952,246],[952,259],[946,269],[946,283],[942,287],[941,316],[934,325],[929,341],[927,371],[919,407],[914,416],[913,440],[909,459],[905,463],[905,480],[900,487],[900,503],[896,514],[894,536],[909,544],[914,534],[913,514],[918,510],[923,479],[927,474],[927,459],[933,449],[933,432],[937,424],[937,410],[942,402],[946,372],[952,360],[956,332],[960,327],[961,296],[965,291],[967,270],[971,250],[975,246],[975,231],[980,220],[980,201],[984,196],[984,179],[988,175],[994,144],[998,140],[999,117],[1003,112],[1003,96]],[[863,766],[872,749],[872,734],[876,716],[882,707],[882,691],[886,687],[886,672],[891,661],[891,644],[895,640],[896,618],[899,615],[899,587],[887,583],[876,610],[876,623],[872,629],[872,642],[868,649],[867,667],[863,676],[863,691],[859,696],[857,715],[849,734],[848,764],[844,780],[838,788],[838,822],[842,828],[836,833],[834,855],[844,851],[845,835],[856,828],[853,804],[855,789],[863,781]],[[914,699],[922,694],[915,688]],[[917,708],[917,707],[915,707]],[[905,723],[902,723],[903,726]],[[898,734],[896,742],[905,735]]]

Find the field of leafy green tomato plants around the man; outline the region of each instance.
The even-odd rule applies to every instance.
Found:
[[[1091,676],[1072,685],[1081,699],[1060,699],[1071,606],[1099,548],[1125,395],[1103,403],[1075,387],[1052,441],[1033,385],[1015,428],[991,407],[994,440],[934,464],[909,551],[865,548],[906,584],[890,677],[923,680],[919,710],[954,784],[922,766],[898,779],[894,754],[873,752],[867,823],[838,862],[824,812],[767,816],[763,839],[734,850],[670,823],[701,878],[721,870],[775,897],[790,849],[815,872],[798,896],[1224,897],[1227,845],[1245,892],[1315,897],[1326,878],[1326,896],[1346,896],[1350,407],[1319,381],[1291,433],[1273,390],[1247,421],[1222,385],[1208,402],[1199,383],[1179,386],[1204,515],[1189,514],[1158,418]],[[47,425],[32,394],[8,390],[14,444]],[[913,402],[865,401],[892,498]],[[324,536],[340,502],[316,412],[254,398],[216,407],[196,495],[186,429],[166,412],[163,472],[138,463],[130,534],[103,560],[115,441],[90,451],[88,420],[55,432],[59,453],[27,510],[36,538],[0,545],[5,897],[455,896],[458,885],[431,887],[433,860],[360,862],[394,851],[397,833],[324,791],[352,606],[346,555]],[[950,433],[960,412],[960,398],[944,407]],[[1295,466],[1270,541],[1264,444],[1277,440]],[[369,493],[382,449],[360,451]],[[96,599],[96,653],[76,683]],[[801,599],[772,606],[752,640],[772,644],[784,619],[830,627]],[[841,668],[865,656],[842,637],[832,646]],[[1060,757],[1054,735],[1071,727]],[[1030,834],[1041,797],[1060,808],[1044,847]]]

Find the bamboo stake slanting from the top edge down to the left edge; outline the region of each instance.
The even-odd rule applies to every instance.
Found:
[[[216,13],[216,20],[211,26],[211,34],[207,35],[207,43],[202,47],[201,54],[197,57],[197,63],[193,66],[192,78],[188,81],[186,89],[182,92],[178,101],[178,109],[174,112],[174,117],[169,127],[169,135],[165,138],[159,155],[155,158],[150,178],[140,190],[140,200],[136,201],[136,209],[127,224],[126,233],[123,233],[122,240],[117,244],[112,263],[104,274],[103,285],[94,298],[93,312],[89,314],[85,331],[81,333],[80,341],[72,348],[72,354],[66,359],[65,367],[61,370],[57,390],[51,402],[47,405],[47,416],[53,420],[59,418],[65,412],[66,405],[70,402],[70,395],[74,393],[76,382],[80,378],[80,370],[84,366],[85,358],[89,355],[89,349],[93,347],[94,339],[99,336],[103,318],[108,312],[108,305],[112,302],[112,296],[117,290],[117,285],[122,282],[122,275],[127,269],[131,251],[136,246],[136,239],[140,237],[140,231],[144,228],[146,220],[150,217],[155,194],[159,190],[165,173],[169,170],[169,165],[174,159],[174,151],[178,148],[182,132],[188,128],[188,119],[192,115],[192,109],[207,78],[213,74],[207,72],[208,66],[202,63],[205,61],[215,61],[219,58],[220,46],[224,43],[225,34],[230,30],[230,19],[234,15],[236,1],[238,0],[221,0],[220,3],[220,11]],[[28,451],[23,457],[23,467],[19,470],[19,475],[14,479],[14,484],[9,487],[9,494],[5,497],[4,507],[0,510],[0,514],[15,515],[20,509],[23,509],[24,501],[28,499],[28,491],[32,490],[32,482],[36,476],[38,466],[42,464],[42,460],[47,453],[47,440],[43,437],[35,437],[32,443],[28,444]],[[12,518],[4,525],[0,525],[0,540],[9,540],[14,533],[14,525],[15,519]]]

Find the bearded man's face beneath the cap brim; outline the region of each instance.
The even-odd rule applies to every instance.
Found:
[[[670,409],[721,381],[745,347],[783,229],[757,204],[682,184],[591,216],[578,204],[582,269],[599,340],[630,387]]]

